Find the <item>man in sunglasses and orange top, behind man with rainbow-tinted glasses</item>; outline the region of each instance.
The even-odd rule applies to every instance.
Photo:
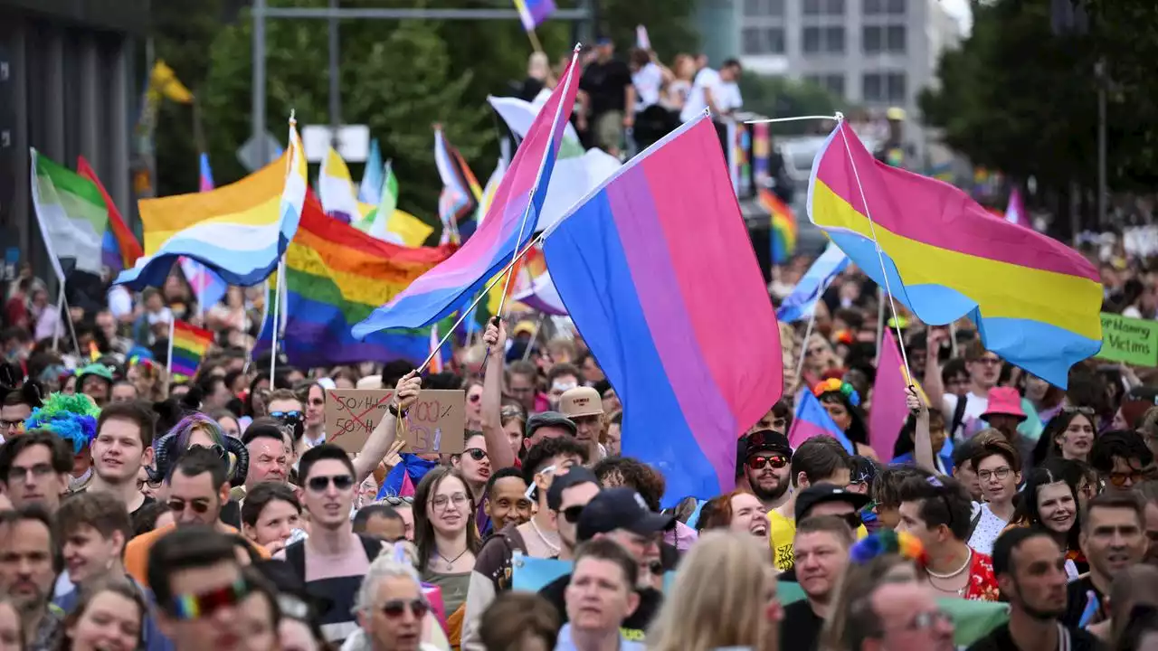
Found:
[[[173,512],[175,525],[139,535],[125,547],[125,570],[149,587],[149,550],[174,528],[204,526],[222,534],[241,535],[236,528],[221,521],[221,510],[229,503],[229,470],[219,451],[193,446],[183,452],[169,468],[161,491],[168,496],[166,505]],[[270,557],[265,548],[252,547],[263,558]]]

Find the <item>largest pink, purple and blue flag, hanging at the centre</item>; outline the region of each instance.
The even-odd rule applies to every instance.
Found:
[[[665,506],[735,485],[735,441],[780,397],[779,328],[705,115],[620,168],[544,246],[623,401],[623,454]]]

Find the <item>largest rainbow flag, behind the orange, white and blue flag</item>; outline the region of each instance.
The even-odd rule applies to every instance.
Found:
[[[279,350],[303,368],[393,359],[420,363],[430,352],[427,328],[374,332],[362,341],[351,328],[453,250],[383,242],[328,217],[313,195],[306,197],[298,234],[286,249]],[[272,332],[267,319],[258,350],[269,350]]]

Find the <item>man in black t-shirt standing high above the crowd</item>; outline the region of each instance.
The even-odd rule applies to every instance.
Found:
[[[636,87],[628,64],[613,58],[615,44],[610,38],[599,39],[596,54],[579,79],[587,144],[617,156],[623,145],[623,130],[633,124]],[[582,125],[580,120],[580,127]]]

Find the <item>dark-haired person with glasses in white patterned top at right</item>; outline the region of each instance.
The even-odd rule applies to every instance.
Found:
[[[969,547],[989,555],[994,550],[994,541],[1013,519],[1013,498],[1021,483],[1021,473],[1018,471],[1021,460],[1017,449],[1001,438],[981,444],[970,462],[977,473],[985,503],[981,505],[981,519],[969,536]]]

